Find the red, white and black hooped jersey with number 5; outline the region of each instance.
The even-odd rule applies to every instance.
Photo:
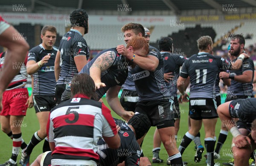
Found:
[[[117,134],[111,111],[99,101],[76,96],[51,110],[47,124],[49,142],[55,143],[52,165],[86,165],[99,161],[97,142]],[[68,159],[68,160],[67,160]]]

